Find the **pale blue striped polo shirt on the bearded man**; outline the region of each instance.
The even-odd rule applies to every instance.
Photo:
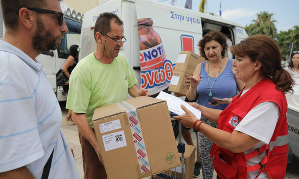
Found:
[[[42,64],[0,40],[0,172],[27,166],[41,178],[54,148],[49,178],[80,178],[61,121]]]

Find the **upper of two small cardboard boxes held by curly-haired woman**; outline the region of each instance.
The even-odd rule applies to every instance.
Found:
[[[174,71],[193,74],[196,66],[203,61],[205,61],[205,58],[191,51],[179,52]]]

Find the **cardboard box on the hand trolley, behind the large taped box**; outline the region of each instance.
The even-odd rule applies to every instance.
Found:
[[[184,179],[193,179],[194,163],[195,163],[195,151],[196,148],[193,145],[185,144],[185,153],[184,153]],[[180,153],[181,159],[181,153]],[[160,175],[160,176],[159,176]],[[165,178],[178,178],[182,177],[182,167],[177,166],[173,169],[162,172],[161,174],[156,175],[154,178],[162,179]]]

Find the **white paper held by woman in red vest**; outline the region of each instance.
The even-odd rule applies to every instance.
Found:
[[[196,118],[200,119],[202,115],[202,112],[190,106],[190,104],[188,104],[186,101],[183,101],[180,98],[170,95],[166,92],[161,91],[156,98],[165,100],[167,102],[168,110],[177,115],[185,114],[184,110],[181,108],[181,104],[183,104],[188,110],[190,110],[196,116]]]

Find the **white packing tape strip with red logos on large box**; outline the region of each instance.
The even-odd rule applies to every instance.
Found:
[[[136,155],[139,163],[140,172],[141,174],[149,172],[150,171],[149,159],[147,157],[147,149],[145,147],[137,111],[134,107],[132,107],[131,105],[129,105],[124,101],[118,104],[120,105],[120,107],[126,110],[126,114],[128,117],[130,129],[132,133],[132,138],[136,150]]]

